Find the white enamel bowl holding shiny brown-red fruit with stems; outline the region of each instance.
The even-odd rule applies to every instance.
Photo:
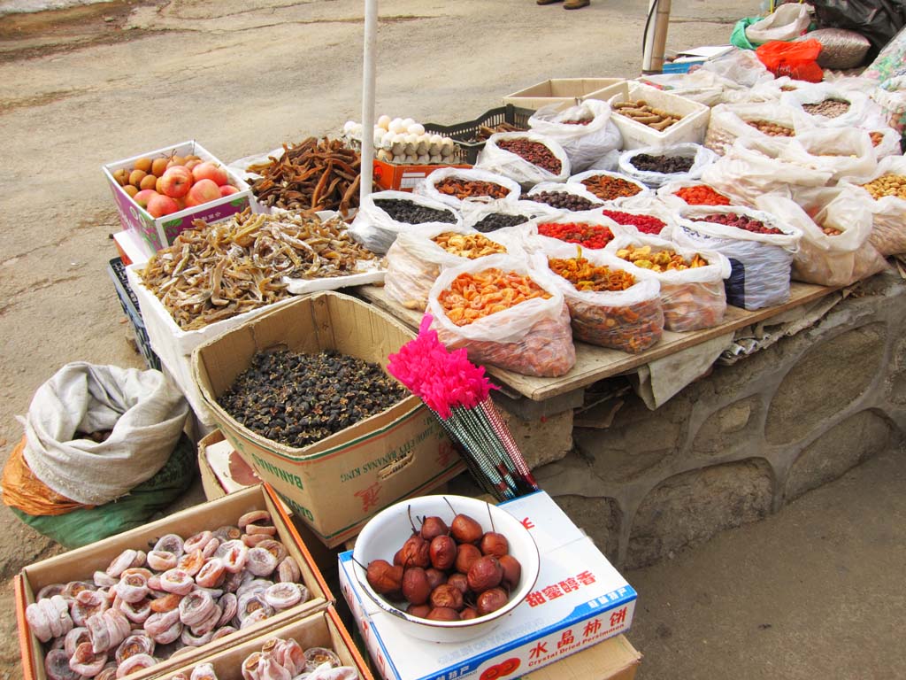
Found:
[[[373,559],[386,559],[391,564],[393,563],[394,553],[412,535],[409,520],[410,510],[416,527],[419,526],[416,516],[419,518],[437,516],[449,525],[456,513],[450,510],[447,500],[456,513],[461,512],[468,515],[476,520],[485,531],[494,530],[506,536],[510,555],[518,559],[522,566],[519,585],[510,593],[506,605],[483,617],[467,621],[430,621],[427,618],[411,617],[402,609],[395,607],[390,600],[378,595],[369,585],[368,578],[365,577],[365,569],[360,566],[367,567]],[[491,518],[494,520],[493,529],[491,528]],[[535,539],[521,522],[495,505],[466,496],[421,496],[391,505],[390,508],[382,510],[372,517],[364,529],[361,529],[361,534],[355,541],[355,549],[352,550],[352,557],[356,562],[353,568],[361,588],[378,607],[397,617],[400,627],[408,635],[417,637],[419,640],[439,643],[465,642],[486,635],[492,628],[499,626],[506,617],[513,613],[513,610],[525,599],[532,588],[535,588],[540,568]]]

